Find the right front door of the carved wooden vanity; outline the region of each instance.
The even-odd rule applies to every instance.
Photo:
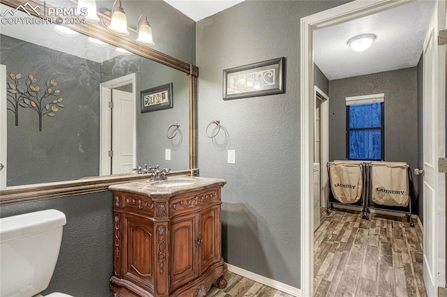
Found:
[[[200,212],[200,274],[221,259],[220,205]]]

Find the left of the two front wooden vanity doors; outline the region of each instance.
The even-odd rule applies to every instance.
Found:
[[[170,288],[175,289],[197,277],[196,213],[171,220]]]

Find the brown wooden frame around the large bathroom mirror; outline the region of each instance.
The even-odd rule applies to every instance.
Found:
[[[73,0],[70,0],[73,2]],[[41,11],[32,13],[35,17],[41,17],[46,15],[44,9],[52,8],[48,4],[44,4],[42,1],[37,0],[0,0],[6,6],[11,8],[17,8],[25,3],[30,3],[33,6],[41,6]],[[42,17],[41,17],[42,18]],[[50,17],[53,20],[56,17]],[[189,76],[189,169],[182,171],[171,172],[170,175],[192,175],[198,176],[197,169],[197,79],[198,79],[198,67],[193,64],[180,61],[172,56],[163,54],[152,48],[139,45],[133,40],[116,36],[108,31],[107,28],[86,22],[85,24],[73,24],[68,28],[78,31],[79,33],[87,36],[103,40],[105,43],[114,45],[116,47],[122,47],[124,50],[128,50],[133,54],[145,57],[152,61],[159,62],[163,65],[177,69]],[[139,179],[146,179],[147,175],[144,174],[123,174],[117,176],[98,176],[95,178],[86,178],[75,181],[61,181],[54,183],[38,183],[31,185],[17,185],[0,189],[0,206],[6,204],[14,204],[23,201],[40,200],[40,199],[52,199],[60,197],[68,197],[74,195],[82,195],[95,192],[103,192],[108,190],[108,186],[115,183],[124,183],[129,181],[136,181]]]

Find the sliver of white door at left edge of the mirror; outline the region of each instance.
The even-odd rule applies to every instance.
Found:
[[[6,187],[6,66],[0,65],[0,188]]]

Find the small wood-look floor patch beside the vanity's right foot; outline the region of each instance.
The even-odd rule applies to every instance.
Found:
[[[249,280],[235,273],[225,275],[228,284],[225,289],[211,287],[207,296],[212,297],[293,297],[284,292],[272,289],[263,284]]]

